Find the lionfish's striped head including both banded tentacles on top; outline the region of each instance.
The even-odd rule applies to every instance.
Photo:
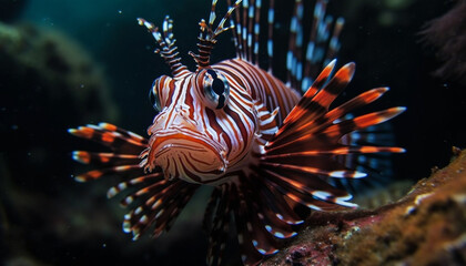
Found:
[[[237,142],[234,141],[237,140],[237,133],[229,124],[229,117],[233,112],[234,115],[242,114],[229,108],[231,86],[221,71],[210,66],[210,54],[216,42],[215,38],[230,29],[224,23],[240,2],[236,1],[229,9],[214,30],[216,1],[209,22],[201,20],[199,53],[190,53],[197,64],[195,72],[189,71],[181,63],[174,45],[173,21],[169,17],[163,21],[162,32],[152,23],[139,19],[140,24],[145,25],[159,43],[160,49],[156,52],[169,64],[173,75],[160,76],[150,90],[150,99],[159,113],[148,130],[151,135],[149,147],[141,154],[141,165],[145,171],[160,167],[166,178],[211,183],[221,178],[230,166],[231,150],[236,151],[239,147],[233,145],[232,149],[232,143]],[[246,110],[252,112],[251,106]],[[246,132],[254,132],[253,124],[251,123],[252,129]],[[250,143],[247,140],[252,136],[241,135],[241,139]]]

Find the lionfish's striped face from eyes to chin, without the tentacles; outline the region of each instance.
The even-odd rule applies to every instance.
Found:
[[[217,178],[227,168],[227,133],[216,123],[229,103],[230,85],[213,69],[203,69],[175,80],[163,75],[150,90],[159,111],[149,127],[144,167],[161,167],[165,177],[194,183]],[[201,177],[202,176],[202,180]]]

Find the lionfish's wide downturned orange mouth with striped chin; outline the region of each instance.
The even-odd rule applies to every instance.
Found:
[[[154,132],[149,149],[141,154],[143,166],[159,166],[165,178],[179,177],[190,183],[209,183],[226,172],[226,149],[202,135],[181,130]]]

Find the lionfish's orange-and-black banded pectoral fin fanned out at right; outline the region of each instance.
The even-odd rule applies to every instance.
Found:
[[[336,188],[327,181],[361,178],[367,174],[341,163],[345,156],[367,153],[398,153],[393,146],[351,145],[342,137],[351,132],[385,122],[404,108],[392,108],[353,119],[344,119],[356,108],[381,98],[388,89],[378,88],[330,110],[336,96],[350,83],[355,64],[348,63],[332,78],[335,61],[317,76],[303,99],[291,111],[282,126],[266,142],[256,173],[269,187],[284,195],[290,205],[305,205],[312,209],[327,211],[338,206],[356,207],[351,194]]]

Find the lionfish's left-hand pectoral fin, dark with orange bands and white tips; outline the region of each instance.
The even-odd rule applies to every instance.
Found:
[[[159,167],[145,173],[140,166],[140,154],[148,147],[148,141],[135,133],[109,123],[79,126],[69,132],[111,150],[105,153],[74,151],[74,161],[98,167],[75,176],[75,180],[119,178],[107,196],[112,198],[123,191],[128,192],[121,200],[122,206],[131,208],[124,216],[123,231],[132,233],[134,239],[151,227],[153,236],[168,231],[197,188],[197,185],[183,181],[166,181]]]

